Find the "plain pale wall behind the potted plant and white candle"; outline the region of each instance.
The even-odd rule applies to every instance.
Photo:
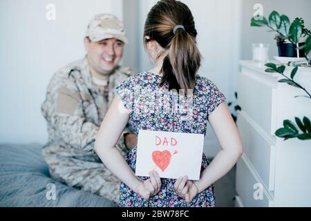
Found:
[[[311,29],[311,1],[310,0],[242,0],[242,38],[241,38],[241,58],[252,59],[252,43],[270,44],[270,59],[278,56],[275,33],[267,32],[267,28],[250,27],[250,19],[254,15],[253,7],[256,3],[263,5],[263,15],[268,18],[273,10],[281,15],[288,15],[290,21],[296,17],[305,19],[305,26]]]

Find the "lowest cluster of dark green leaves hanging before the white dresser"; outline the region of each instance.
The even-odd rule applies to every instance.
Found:
[[[283,128],[279,128],[275,135],[277,137],[284,138],[284,140],[298,138],[299,140],[311,140],[311,122],[308,117],[303,117],[303,123],[299,117],[295,117],[296,124],[299,128],[289,119],[285,119],[283,122]],[[303,133],[299,134],[299,129]]]

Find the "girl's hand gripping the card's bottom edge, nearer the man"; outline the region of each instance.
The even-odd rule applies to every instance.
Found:
[[[159,193],[162,183],[157,171],[149,172],[150,178],[140,182],[138,185],[138,194],[147,200],[151,196]]]

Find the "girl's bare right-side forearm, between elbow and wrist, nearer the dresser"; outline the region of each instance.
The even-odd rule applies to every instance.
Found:
[[[200,180],[196,182],[199,192],[204,191],[211,184],[214,184],[214,182],[227,174],[234,164],[238,162],[241,155],[241,151],[219,151],[211,164],[207,166],[207,169],[202,172]]]

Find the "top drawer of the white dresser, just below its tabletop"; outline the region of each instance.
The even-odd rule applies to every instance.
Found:
[[[243,69],[238,76],[238,104],[267,135],[276,131],[276,89],[275,77]]]

